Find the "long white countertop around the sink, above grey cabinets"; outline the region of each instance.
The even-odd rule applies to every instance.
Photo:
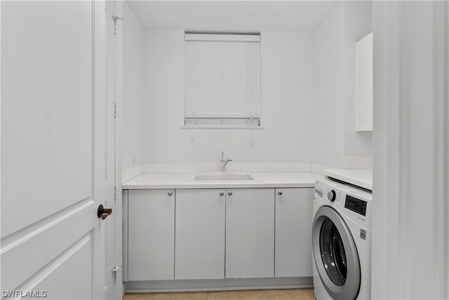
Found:
[[[310,172],[249,172],[254,181],[195,181],[196,173],[144,173],[123,190],[158,188],[313,188],[320,175]]]

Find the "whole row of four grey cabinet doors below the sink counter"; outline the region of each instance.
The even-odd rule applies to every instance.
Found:
[[[128,280],[311,277],[313,190],[129,190]]]

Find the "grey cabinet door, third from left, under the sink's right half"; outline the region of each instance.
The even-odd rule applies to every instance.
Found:
[[[226,278],[274,276],[274,189],[229,189]]]

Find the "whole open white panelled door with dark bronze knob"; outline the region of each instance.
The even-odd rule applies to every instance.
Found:
[[[104,30],[104,2],[1,2],[2,297],[105,297]]]

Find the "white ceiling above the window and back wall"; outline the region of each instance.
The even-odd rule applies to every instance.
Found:
[[[338,1],[127,1],[144,28],[191,32],[309,31]]]

